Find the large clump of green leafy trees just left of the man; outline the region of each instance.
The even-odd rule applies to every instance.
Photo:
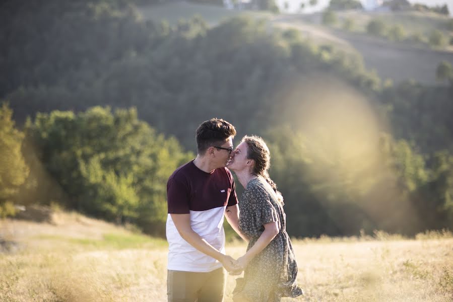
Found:
[[[26,132],[38,160],[68,194],[64,206],[163,236],[166,181],[193,156],[140,121],[136,109],[38,114]]]

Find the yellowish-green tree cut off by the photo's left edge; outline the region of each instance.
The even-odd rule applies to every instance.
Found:
[[[6,103],[0,108],[0,217],[15,213],[14,201],[27,176],[21,152],[23,133],[14,127],[13,112]]]

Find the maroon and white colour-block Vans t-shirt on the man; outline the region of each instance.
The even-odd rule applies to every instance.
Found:
[[[200,252],[179,235],[170,214],[190,214],[190,226],[209,244],[225,253],[223,220],[225,208],[237,204],[231,172],[219,168],[204,172],[189,162],[167,182],[167,240],[169,270],[210,272],[222,267],[216,259]]]

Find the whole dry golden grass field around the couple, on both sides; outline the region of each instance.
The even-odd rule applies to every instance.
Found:
[[[0,301],[166,301],[167,244],[80,214],[0,220]],[[283,301],[453,301],[453,236],[295,240],[305,295]],[[239,257],[242,243],[227,252]],[[227,297],[235,277],[227,283]]]

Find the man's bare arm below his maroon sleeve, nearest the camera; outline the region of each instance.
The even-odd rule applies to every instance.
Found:
[[[181,235],[182,239],[187,241],[188,244],[200,252],[219,260],[227,271],[236,269],[235,260],[232,257],[219,252],[205,239],[201,238],[200,235],[192,230],[190,227],[190,214],[170,214],[170,216],[176,226],[176,230],[178,230],[179,235]]]

